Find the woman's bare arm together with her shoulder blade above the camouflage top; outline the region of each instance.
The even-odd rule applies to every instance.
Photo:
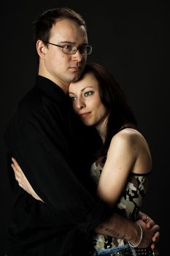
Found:
[[[129,173],[150,173],[151,157],[139,132],[120,131],[112,138],[98,181],[98,195],[111,207],[117,203],[128,181]]]

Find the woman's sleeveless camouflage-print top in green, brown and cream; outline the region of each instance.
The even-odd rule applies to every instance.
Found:
[[[98,179],[101,175],[101,171],[104,167],[107,157],[100,157],[96,162],[93,163],[90,175],[98,184]],[[123,193],[117,200],[117,213],[121,214],[123,217],[135,221],[138,219],[139,210],[142,206],[144,196],[147,190],[147,174],[135,174],[130,173],[128,176],[128,182],[123,189]],[[127,244],[123,239],[112,238],[110,236],[98,235],[93,237],[93,248],[95,251],[100,251],[102,249],[109,249],[115,246],[123,246]]]

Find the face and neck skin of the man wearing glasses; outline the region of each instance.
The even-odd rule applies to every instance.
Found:
[[[72,20],[58,20],[50,31],[50,43],[56,45],[72,45],[79,48],[88,44],[88,37],[84,26],[79,26]],[[39,75],[53,80],[66,91],[69,83],[77,80],[85,67],[87,56],[79,50],[70,55],[63,53],[63,48],[55,45],[44,45],[45,55],[40,56]]]

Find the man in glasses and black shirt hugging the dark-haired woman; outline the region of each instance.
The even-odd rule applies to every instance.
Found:
[[[134,245],[139,240],[142,246],[150,245],[158,238],[157,225],[147,229],[141,221],[142,237],[137,225],[116,214],[105,222],[109,209],[90,186],[87,170],[96,150],[93,131],[82,127],[66,97],[69,83],[80,77],[92,50],[85,21],[73,10],[58,8],[44,12],[34,29],[36,85],[20,101],[6,140],[44,203],[15,186],[7,256],[90,255],[95,229]]]

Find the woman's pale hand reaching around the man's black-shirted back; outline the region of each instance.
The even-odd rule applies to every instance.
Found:
[[[12,169],[15,173],[15,179],[18,181],[18,185],[22,187],[26,192],[28,192],[32,197],[34,197],[36,200],[42,201],[42,199],[36,194],[34,189],[31,187],[31,184],[29,184],[28,179],[23,173],[23,170],[21,170],[20,165],[18,165],[18,162],[15,158],[12,157]],[[43,202],[43,201],[42,201]]]

